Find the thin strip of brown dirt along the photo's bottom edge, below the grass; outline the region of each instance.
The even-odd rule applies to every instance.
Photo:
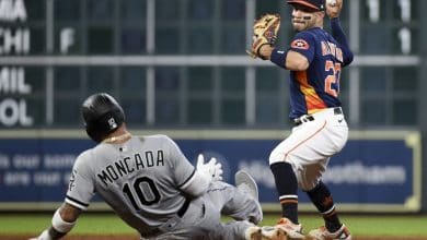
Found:
[[[34,236],[4,236],[0,235],[0,240],[26,240]],[[427,237],[354,237],[354,240],[427,240]],[[131,235],[104,235],[104,236],[77,236],[71,235],[64,238],[64,240],[139,240],[137,236]]]

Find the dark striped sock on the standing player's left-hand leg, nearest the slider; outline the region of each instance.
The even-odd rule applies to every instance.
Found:
[[[298,224],[298,182],[292,166],[288,163],[270,165],[281,205],[281,216]]]

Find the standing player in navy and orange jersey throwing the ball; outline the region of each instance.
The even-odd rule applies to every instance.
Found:
[[[262,59],[290,70],[291,134],[269,156],[282,209],[277,225],[290,238],[304,239],[298,221],[297,189],[301,188],[323,215],[325,226],[309,232],[311,239],[351,239],[339,221],[322,175],[330,158],[347,142],[348,128],[338,99],[341,73],[353,53],[339,23],[343,0],[288,0],[293,8],[295,37],[289,46],[264,45]],[[323,29],[325,15],[332,33]]]

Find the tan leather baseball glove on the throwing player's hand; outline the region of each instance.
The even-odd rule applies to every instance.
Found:
[[[261,19],[255,20],[253,26],[252,47],[246,52],[252,58],[261,58],[259,49],[264,45],[273,46],[277,39],[277,33],[280,27],[280,15],[279,14],[265,14]]]

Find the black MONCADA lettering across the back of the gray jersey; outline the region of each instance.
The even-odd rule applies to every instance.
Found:
[[[131,173],[135,170],[141,170],[150,167],[164,166],[163,151],[157,153],[147,151],[145,154],[136,153],[134,156],[125,157],[107,165],[96,176],[104,182],[105,185],[122,178],[125,175]]]

